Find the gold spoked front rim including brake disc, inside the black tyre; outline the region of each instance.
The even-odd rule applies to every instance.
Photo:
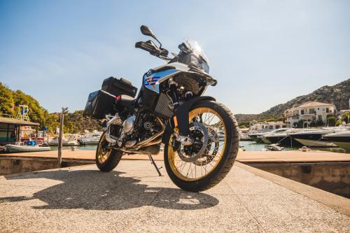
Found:
[[[221,115],[211,108],[195,108],[190,111],[190,124],[202,124],[203,128],[200,134],[195,133],[195,140],[200,140],[192,146],[184,146],[181,151],[174,151],[172,143],[168,144],[168,157],[171,169],[176,176],[184,181],[193,181],[200,178],[204,178],[213,171],[223,157],[223,151],[225,150],[225,136],[226,129],[223,124]],[[192,127],[191,132],[198,130],[197,127]],[[204,134],[204,132],[205,134]],[[223,131],[224,137],[219,138],[218,133]],[[199,135],[199,136],[198,136]],[[207,136],[207,139],[203,139],[203,136]],[[173,138],[171,138],[171,141]],[[170,141],[170,142],[171,142]],[[207,141],[207,142],[206,142]],[[205,143],[205,144],[204,144]],[[206,148],[203,148],[205,146]],[[196,154],[202,150],[202,155]],[[197,151],[197,152],[196,152]],[[192,160],[191,157],[197,157]],[[197,171],[197,168],[199,171]]]

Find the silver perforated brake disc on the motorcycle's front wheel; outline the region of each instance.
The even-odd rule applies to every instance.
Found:
[[[190,132],[192,134],[194,134],[195,132],[198,133],[200,132],[200,134],[202,134],[202,137],[200,139],[200,143],[202,144],[200,150],[198,150],[197,152],[193,152],[193,153],[186,153],[186,151],[184,150],[184,146],[181,145],[180,149],[178,150],[178,155],[181,158],[181,160],[185,161],[185,162],[195,162],[197,161],[200,157],[203,157],[204,153],[207,150],[207,146],[208,146],[208,139],[209,139],[209,135],[208,135],[208,130],[207,128],[200,122],[194,122],[193,124],[191,124],[190,126]],[[197,141],[199,142],[199,141]],[[194,140],[194,143],[196,143],[196,139]],[[193,147],[195,145],[191,145],[191,147]]]

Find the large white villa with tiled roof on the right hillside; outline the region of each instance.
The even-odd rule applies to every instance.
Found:
[[[295,126],[297,122],[302,120],[304,127],[307,127],[312,122],[325,123],[328,116],[335,115],[336,111],[334,104],[308,101],[300,106],[287,109],[283,116],[286,118],[287,124]]]

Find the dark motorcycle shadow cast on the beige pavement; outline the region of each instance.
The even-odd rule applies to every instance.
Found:
[[[29,183],[29,186],[45,185],[45,179],[62,183],[35,192],[33,197],[0,197],[0,203],[39,199],[46,205],[34,206],[34,209],[91,210],[123,210],[148,205],[165,209],[204,209],[218,204],[218,199],[211,195],[186,192],[178,188],[162,188],[167,183],[156,181],[156,178],[147,183],[158,187],[148,187],[138,178],[121,175],[123,173],[119,171],[103,173],[94,170],[63,170],[8,177],[8,180],[23,180],[25,184],[36,178],[42,179],[42,182],[35,181]]]

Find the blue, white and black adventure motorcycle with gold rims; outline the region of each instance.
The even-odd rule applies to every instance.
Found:
[[[158,41],[146,26],[141,26],[141,33]],[[164,143],[165,168],[172,181],[183,190],[207,190],[235,162],[237,122],[226,106],[203,95],[217,81],[209,75],[200,45],[185,41],[179,45],[179,54],[169,58],[158,43],[159,47],[151,40],[135,44],[167,61],[144,74],[138,94],[130,81],[113,77],[104,80],[101,90],[90,93],[85,115],[101,120],[104,127],[96,164],[101,171],[111,171],[123,154],[134,153],[148,155],[154,164],[152,155]]]

